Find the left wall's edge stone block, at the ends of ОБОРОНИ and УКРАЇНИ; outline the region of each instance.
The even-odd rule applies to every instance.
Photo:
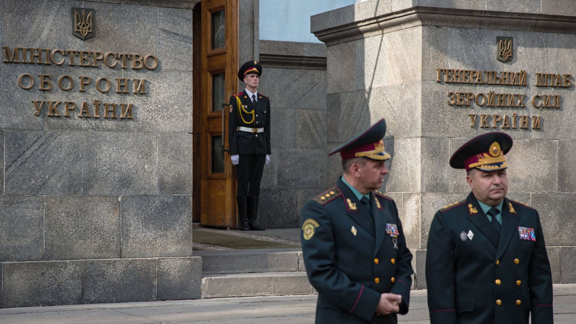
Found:
[[[146,79],[146,94],[130,92],[123,96],[125,102],[134,104],[134,118],[122,120],[124,131],[192,131],[192,73],[130,70],[122,76]]]

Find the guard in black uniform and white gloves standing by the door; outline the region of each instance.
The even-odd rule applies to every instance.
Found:
[[[262,65],[248,61],[238,70],[246,89],[230,97],[228,142],[236,165],[240,231],[264,231],[256,223],[264,164],[270,162],[270,99],[258,93]]]

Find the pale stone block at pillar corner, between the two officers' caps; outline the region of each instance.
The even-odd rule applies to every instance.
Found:
[[[421,189],[426,193],[448,192],[448,138],[423,137],[421,140],[422,156]]]

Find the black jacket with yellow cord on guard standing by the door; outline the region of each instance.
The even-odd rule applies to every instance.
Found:
[[[238,107],[236,97],[240,98],[242,107]],[[230,155],[267,155],[272,154],[270,148],[270,99],[258,93],[256,103],[248,98],[244,92],[230,97],[230,119],[228,122],[228,142]],[[238,109],[240,108],[240,109]],[[247,114],[244,111],[254,114]],[[240,115],[241,114],[241,115]],[[247,123],[245,123],[247,122]],[[238,126],[253,129],[263,128],[263,133],[252,133],[237,130]]]

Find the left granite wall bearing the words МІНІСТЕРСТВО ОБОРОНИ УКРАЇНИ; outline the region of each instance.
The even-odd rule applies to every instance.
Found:
[[[200,297],[188,134],[196,2],[2,2],[2,46],[151,54],[159,65],[0,63],[1,307]],[[72,35],[71,7],[96,10],[93,37]],[[31,88],[18,86],[22,73]],[[52,75],[50,90],[39,90],[39,74]],[[63,74],[75,80],[69,91],[58,86]],[[84,92],[79,76],[92,80]],[[97,91],[99,77],[111,91]],[[115,78],[146,78],[146,93],[131,81],[117,93]],[[94,115],[95,99],[133,103],[134,118],[78,118],[82,101]],[[38,115],[32,100],[46,101]],[[77,107],[48,116],[50,100],[62,114],[64,101]]]

